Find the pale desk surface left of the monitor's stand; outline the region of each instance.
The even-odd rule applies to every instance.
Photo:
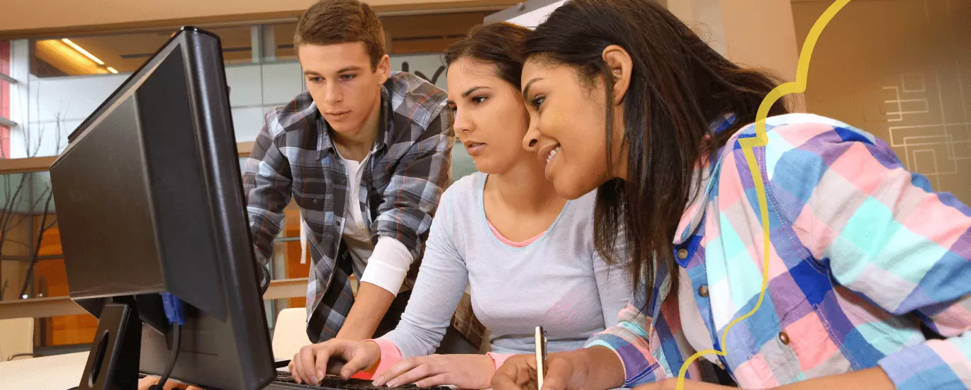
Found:
[[[81,383],[87,352],[0,363],[4,390],[67,390]]]

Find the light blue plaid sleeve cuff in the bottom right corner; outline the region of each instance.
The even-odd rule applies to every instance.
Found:
[[[889,354],[877,364],[899,390],[965,388],[971,378],[964,375],[961,380],[954,369],[968,372],[968,358],[952,341],[925,341]]]

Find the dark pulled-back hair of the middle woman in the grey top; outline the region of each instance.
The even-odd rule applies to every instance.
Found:
[[[465,38],[445,50],[445,64],[451,66],[463,57],[494,64],[498,70],[496,76],[519,90],[522,43],[529,32],[528,28],[504,21],[477,25],[469,30]]]

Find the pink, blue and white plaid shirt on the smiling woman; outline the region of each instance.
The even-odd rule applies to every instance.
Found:
[[[786,114],[766,129],[768,145],[754,154],[768,199],[769,269],[737,143],[754,137],[753,125],[700,168],[707,179],[674,240],[690,278],[680,282],[691,284],[716,349],[725,326],[754,308],[768,272],[761,307],[728,331],[719,366],[743,388],[878,366],[899,389],[971,386],[971,210],[845,123]],[[651,302],[634,297],[621,322],[588,343],[617,352],[628,387],[676,376],[694,352],[670,277],[655,269]],[[926,340],[921,322],[944,340]],[[697,360],[687,376],[699,378]]]

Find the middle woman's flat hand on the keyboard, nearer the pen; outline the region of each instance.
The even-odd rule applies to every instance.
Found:
[[[495,363],[487,355],[428,355],[402,360],[374,376],[376,386],[397,387],[415,383],[419,387],[454,385],[462,389],[487,389]]]

